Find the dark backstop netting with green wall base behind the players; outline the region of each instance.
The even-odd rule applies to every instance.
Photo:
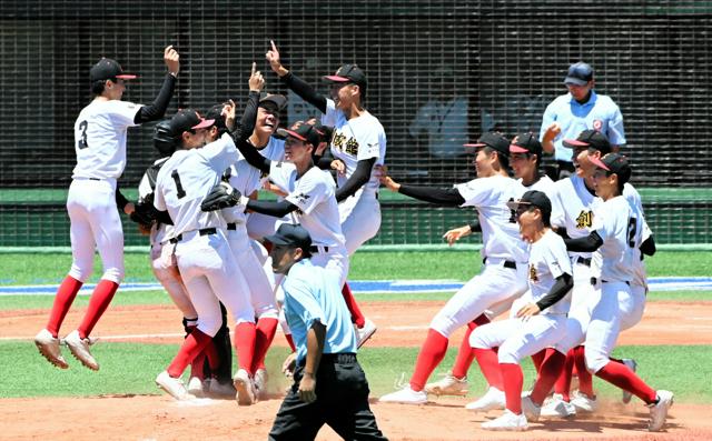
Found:
[[[709,242],[711,20],[712,6],[695,1],[4,0],[0,247],[69,243],[72,126],[100,57],[139,73],[125,99],[148,103],[165,72],[162,48],[175,44],[182,72],[171,114],[244,101],[251,61],[269,91],[287,93],[264,60],[270,39],[323,91],[320,76],[358,63],[394,177],[439,187],[474,177],[463,141],[490,129],[537,132],[546,104],[565,93],[566,68],[585,60],[596,90],[623,112],[632,182],[659,242]],[[314,114],[289,98],[283,124]],[[123,189],[155,158],[151,129],[129,132]],[[372,244],[442,243],[443,231],[473,217],[386,192]],[[125,231],[127,244],[145,243],[134,225]]]

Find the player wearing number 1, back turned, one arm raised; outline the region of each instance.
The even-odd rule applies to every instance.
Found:
[[[198,324],[186,338],[168,369],[158,374],[156,383],[176,399],[190,398],[180,375],[188,363],[210,342],[221,324],[221,301],[235,320],[235,345],[239,370],[234,385],[240,405],[255,402],[256,391],[249,370],[255,344],[255,310],[248,287],[235,262],[226,237],[225,220],[219,213],[204,212],[200,202],[220,182],[222,172],[239,157],[235,144],[247,142],[257,116],[259,91],[264,87],[260,72],[249,78],[249,99],[240,129],[205,144],[214,123],[198,112],[185,109],[171,119],[171,130],[180,133],[181,149],[164,164],[156,182],[154,204],[167,210],[174,220],[171,243],[190,300],[198,312]]]

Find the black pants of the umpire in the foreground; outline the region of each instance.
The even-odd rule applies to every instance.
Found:
[[[316,401],[308,404],[299,399],[303,372],[304,365],[297,365],[294,384],[277,412],[269,440],[314,440],[324,424],[347,441],[386,440],[368,407],[368,382],[356,354],[322,355]]]

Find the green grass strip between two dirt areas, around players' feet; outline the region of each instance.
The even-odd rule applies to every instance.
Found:
[[[278,337],[279,338],[279,337]],[[99,394],[154,394],[156,375],[175,355],[175,344],[109,343],[97,344],[92,352],[101,363],[99,372],[91,372],[69,357],[70,369],[59,370],[43,361],[30,342],[0,343],[0,359],[12,360],[6,364],[6,379],[0,383],[0,398],[60,397]],[[270,378],[285,385],[278,367],[287,354],[285,348],[270,349],[267,357]],[[678,400],[712,402],[712,347],[623,347],[619,357],[631,357],[639,362],[639,373],[652,387],[675,392]],[[379,397],[394,390],[396,381],[405,381],[413,372],[417,355],[414,348],[368,348],[359,352],[359,361],[370,383],[372,395]],[[445,360],[434,372],[432,380],[445,373],[453,364],[455,349],[451,348]],[[531,362],[522,363],[525,383],[533,378]],[[485,383],[476,365],[469,372],[469,395],[477,397]],[[278,380],[277,380],[278,379]],[[595,380],[603,397],[617,398],[620,391]]]

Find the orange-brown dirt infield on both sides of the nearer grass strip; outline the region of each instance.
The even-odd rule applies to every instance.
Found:
[[[427,324],[442,302],[364,302],[368,317],[380,328],[369,345],[418,347]],[[407,313],[404,313],[407,311]],[[66,328],[79,320],[72,311]],[[44,310],[0,311],[0,339],[30,339],[47,319]],[[385,325],[384,323],[387,323]],[[665,332],[660,332],[661,327]],[[179,342],[180,314],[171,307],[111,308],[95,334],[106,340]],[[454,335],[458,341],[461,334]],[[277,344],[284,344],[277,338]],[[621,344],[709,344],[712,341],[712,302],[654,302],[643,321],[621,335]],[[38,362],[43,362],[38,357]],[[573,421],[532,423],[523,435],[483,431],[479,423],[497,412],[466,411],[466,399],[441,399],[418,407],[379,404],[373,410],[390,440],[710,440],[712,405],[675,403],[666,433],[645,432],[647,410],[640,403],[611,403],[595,417]],[[237,408],[233,400],[202,399],[177,403],[161,395],[97,398],[41,398],[0,400],[6,415],[2,438],[12,440],[174,440],[199,434],[210,440],[266,439],[280,399]],[[38,418],[41,415],[41,418]],[[324,429],[319,440],[339,439]]]

